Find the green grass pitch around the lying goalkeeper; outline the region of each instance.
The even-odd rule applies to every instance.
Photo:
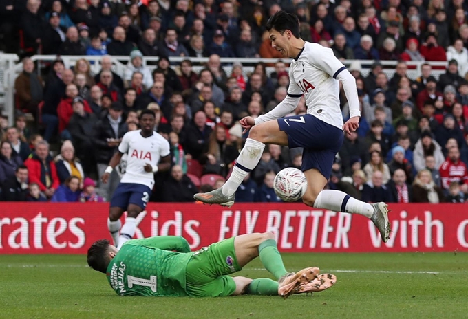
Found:
[[[337,284],[286,300],[120,297],[85,256],[2,255],[0,318],[468,318],[466,253],[284,254],[284,262],[293,271],[317,265]],[[254,261],[240,274],[268,276],[261,267]]]

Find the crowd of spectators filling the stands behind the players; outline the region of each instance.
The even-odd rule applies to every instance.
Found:
[[[460,0],[1,1],[0,49],[25,58],[15,80],[14,126],[0,116],[0,198],[109,200],[125,157],[109,183],[99,177],[123,135],[138,129],[142,109],[156,113],[155,130],[173,157],[170,172],[156,174],[151,200],[190,202],[198,190],[219,187],[246,138],[238,120],[270,111],[287,94],[288,65],[265,30],[270,15],[286,10],[299,17],[304,40],[330,47],[341,60],[375,61],[367,76],[359,62],[349,67],[362,116],[358,131],[345,136],[328,187],[367,202],[463,202],[467,9]],[[28,58],[36,53],[57,56],[41,64],[43,77]],[[66,55],[101,56],[101,69],[93,74],[85,59],[66,68]],[[112,56],[129,56],[125,72],[114,72]],[[159,57],[152,72],[145,56]],[[171,56],[186,59],[171,63]],[[190,57],[209,61],[194,72]],[[278,61],[268,65],[271,74],[262,62],[246,74],[241,63],[223,65],[223,57]],[[381,60],[398,61],[394,76]],[[405,61],[448,63],[438,79],[423,63],[414,79]],[[343,93],[340,99],[346,120]],[[301,98],[295,114],[305,112]],[[273,178],[288,166],[301,167],[301,149],[268,146],[236,201],[279,201]]]

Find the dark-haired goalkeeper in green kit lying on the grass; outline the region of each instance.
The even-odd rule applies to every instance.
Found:
[[[228,276],[260,257],[276,278],[251,279]],[[240,294],[279,295],[320,292],[336,283],[332,274],[318,267],[297,273],[286,271],[273,233],[235,236],[191,252],[181,236],[157,236],[127,241],[117,250],[107,239],[96,241],[87,263],[107,275],[121,296],[218,297]]]

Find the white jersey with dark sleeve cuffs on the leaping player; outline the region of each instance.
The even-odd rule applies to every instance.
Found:
[[[343,129],[336,78],[344,69],[346,67],[334,56],[332,49],[306,42],[289,66],[288,96],[304,94],[308,114]]]

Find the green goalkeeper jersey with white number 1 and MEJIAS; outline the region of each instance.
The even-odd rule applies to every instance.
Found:
[[[189,252],[180,236],[127,241],[109,263],[107,280],[121,296],[187,296]]]

